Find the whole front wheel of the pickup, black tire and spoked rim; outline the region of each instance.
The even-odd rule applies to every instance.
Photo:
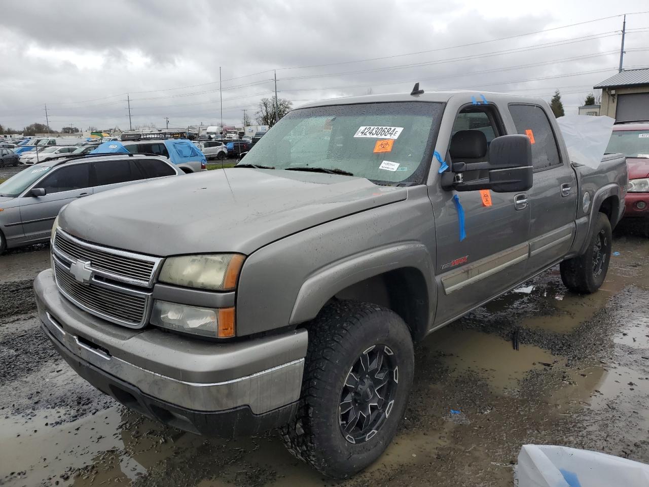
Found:
[[[336,301],[308,328],[302,397],[282,428],[289,451],[324,475],[366,468],[391,442],[413,379],[406,323],[381,306]]]

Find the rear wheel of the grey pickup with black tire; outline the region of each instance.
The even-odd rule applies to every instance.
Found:
[[[600,240],[601,239],[601,240]],[[561,281],[572,292],[578,294],[591,294],[602,286],[606,279],[609,262],[611,261],[611,222],[604,213],[599,213],[594,223],[593,236],[583,255],[570,258],[561,262]],[[594,271],[594,257],[599,254],[603,261],[598,272]]]

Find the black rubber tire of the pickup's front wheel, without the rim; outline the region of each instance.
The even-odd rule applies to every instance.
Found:
[[[343,479],[378,458],[397,432],[413,379],[414,354],[410,331],[395,312],[358,301],[335,301],[323,308],[308,327],[302,397],[296,417],[282,427],[288,450],[317,471]],[[398,366],[393,407],[365,442],[350,443],[339,423],[343,384],[357,358],[372,345],[386,345]]]

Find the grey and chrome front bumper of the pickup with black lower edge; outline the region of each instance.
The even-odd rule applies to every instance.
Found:
[[[232,436],[282,425],[295,412],[305,330],[205,342],[95,318],[60,295],[50,270],[36,277],[34,293],[43,331],[66,362],[145,416],[186,431]]]

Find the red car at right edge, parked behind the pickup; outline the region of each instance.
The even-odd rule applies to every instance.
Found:
[[[614,125],[606,153],[615,152],[626,155],[629,168],[624,219],[643,218],[637,223],[649,236],[649,121]]]

